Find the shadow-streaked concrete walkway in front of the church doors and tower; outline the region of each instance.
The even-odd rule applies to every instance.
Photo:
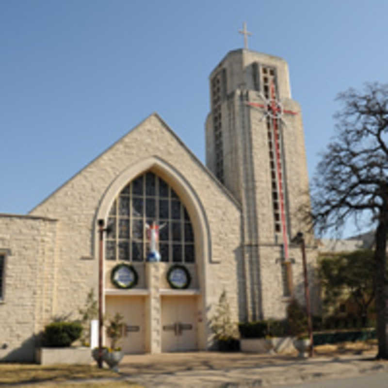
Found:
[[[145,387],[281,387],[306,381],[388,372],[375,353],[332,354],[300,359],[294,355],[247,353],[164,353],[125,356],[122,378]]]

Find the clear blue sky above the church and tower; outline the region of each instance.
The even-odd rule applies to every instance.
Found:
[[[337,93],[387,82],[387,15],[386,0],[0,0],[0,212],[28,212],[154,111],[204,162],[208,76],[243,21],[250,49],[289,63],[311,177]]]

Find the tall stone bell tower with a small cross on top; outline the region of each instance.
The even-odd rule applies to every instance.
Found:
[[[282,58],[237,49],[211,72],[206,164],[242,204],[242,318],[281,318],[293,293],[290,240],[308,202],[301,109]]]

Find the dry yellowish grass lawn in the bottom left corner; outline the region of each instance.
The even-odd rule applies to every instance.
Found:
[[[31,383],[39,383],[39,387],[96,387],[89,379],[101,379],[98,387],[131,387],[141,386],[126,381],[104,381],[104,379],[119,378],[120,375],[108,369],[99,369],[94,365],[35,365],[0,363],[0,386],[33,387]],[[72,380],[85,380],[73,382]],[[19,385],[20,384],[20,385]],[[25,384],[25,385],[24,385]]]

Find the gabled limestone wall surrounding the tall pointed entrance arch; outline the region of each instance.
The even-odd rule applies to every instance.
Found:
[[[201,313],[205,319],[209,318],[210,307],[218,302],[219,295],[225,288],[233,319],[237,321],[241,217],[239,204],[156,114],[148,117],[32,210],[33,215],[61,220],[55,312],[75,313],[84,303],[88,290],[97,286],[95,239],[99,204],[123,171],[150,156],[159,158],[177,172],[183,182],[182,187],[188,187],[194,193],[205,214],[205,230],[201,231],[200,225],[195,222],[198,216],[193,214],[194,208],[184,197],[184,191],[174,186],[175,183],[167,172],[162,175],[164,170],[161,166],[155,166],[154,172],[162,175],[176,189],[194,220],[196,253],[200,254],[196,257],[196,263],[198,284],[203,295]],[[138,171],[138,174],[143,172]],[[114,197],[112,202],[113,199]],[[199,242],[201,233],[208,235]],[[198,243],[205,242],[206,247],[197,246]],[[204,258],[202,255],[206,252],[207,257]]]

